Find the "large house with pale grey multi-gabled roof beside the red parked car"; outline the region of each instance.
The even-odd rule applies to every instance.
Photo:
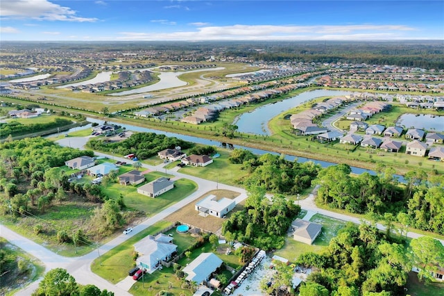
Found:
[[[178,246],[172,243],[173,238],[163,233],[157,236],[146,236],[134,244],[134,249],[139,256],[137,265],[148,273],[153,273],[160,267],[160,261],[168,261],[177,251]]]

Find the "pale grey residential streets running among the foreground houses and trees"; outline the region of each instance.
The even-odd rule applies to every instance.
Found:
[[[58,143],[62,146],[69,146],[73,148],[79,148],[84,149],[84,145],[86,144],[88,140],[88,137],[82,137],[82,138],[74,138],[74,137],[68,137],[63,138],[62,140],[59,140]],[[95,152],[96,155],[99,156],[106,156],[108,158],[112,158],[115,161],[126,161],[128,162],[127,158],[121,158],[116,156],[111,156],[108,154],[103,154],[99,152]],[[160,213],[157,213],[157,215],[154,215],[153,217],[149,217],[148,219],[144,220],[142,223],[138,224],[137,226],[133,227],[133,232],[131,232],[128,235],[121,234],[120,236],[117,236],[117,238],[114,238],[113,240],[110,240],[109,242],[106,242],[104,245],[101,245],[99,249],[94,250],[93,252],[90,252],[89,254],[86,254],[84,256],[76,257],[76,258],[68,258],[64,256],[60,256],[58,254],[55,254],[54,252],[49,251],[49,249],[46,249],[42,247],[41,245],[38,245],[37,243],[33,242],[32,240],[29,240],[28,238],[24,238],[23,236],[20,236],[19,234],[15,233],[14,231],[11,231],[10,229],[4,227],[3,225],[0,225],[0,235],[3,238],[6,238],[6,240],[9,240],[12,244],[17,245],[17,247],[20,247],[24,249],[24,251],[28,252],[29,254],[35,256],[40,261],[42,261],[46,267],[46,272],[53,269],[53,268],[65,268],[71,275],[73,275],[76,278],[76,281],[78,283],[81,283],[83,285],[87,283],[92,283],[99,287],[100,289],[107,289],[112,292],[114,292],[114,295],[130,295],[126,290],[123,290],[117,285],[114,285],[113,283],[110,283],[109,281],[106,281],[105,279],[99,277],[98,275],[94,274],[91,271],[91,263],[94,261],[95,258],[99,257],[99,255],[103,255],[106,252],[108,252],[110,249],[116,247],[117,245],[120,245],[125,240],[128,240],[128,238],[134,236],[135,234],[139,233],[140,231],[146,229],[147,227],[153,225],[155,222],[158,222],[164,217],[167,217],[174,211],[178,210],[179,208],[182,208],[183,206],[189,204],[190,202],[193,202],[198,197],[204,195],[206,192],[210,190],[214,190],[216,188],[219,189],[226,189],[226,190],[232,190],[235,192],[240,192],[241,195],[235,199],[236,203],[239,204],[239,202],[243,201],[247,197],[247,192],[243,188],[237,188],[234,186],[228,186],[221,183],[216,183],[214,181],[208,181],[205,179],[198,178],[196,176],[189,176],[186,174],[182,174],[177,172],[177,169],[173,170],[165,170],[163,168],[164,163],[152,166],[152,165],[142,165],[143,167],[149,169],[149,170],[156,170],[160,172],[166,172],[167,174],[171,174],[176,176],[176,178],[185,178],[190,179],[198,184],[198,189],[189,195],[188,197],[185,197],[185,199],[182,199],[180,202],[177,202],[176,204],[173,204],[169,208],[165,209],[164,211],[161,211]],[[314,189],[314,192],[317,190],[317,187]],[[297,201],[298,204],[302,207],[302,209],[307,211],[306,217],[311,217],[311,215],[314,215],[315,213],[320,213],[322,215],[325,215],[327,217],[334,217],[339,220],[344,221],[350,221],[357,224],[360,224],[362,220],[359,220],[355,217],[350,217],[348,215],[343,215],[339,213],[334,213],[332,211],[323,210],[321,208],[318,208],[316,204],[314,204],[314,194],[310,194],[307,199],[302,199],[300,201]],[[385,227],[382,224],[377,224],[377,228],[384,230]],[[418,238],[421,235],[414,232],[407,233],[407,236],[409,238]],[[441,243],[444,245],[444,241],[440,240]],[[32,283],[31,285],[27,286],[26,288],[20,290],[16,295],[31,295],[33,291],[37,288],[38,281]]]

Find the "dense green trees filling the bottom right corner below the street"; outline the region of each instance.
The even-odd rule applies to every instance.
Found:
[[[422,268],[420,277],[427,278],[436,265],[444,264],[444,246],[434,238],[413,239],[408,248],[401,243],[369,224],[349,223],[323,252],[298,258],[298,265],[314,268],[300,295],[404,295],[413,266]]]

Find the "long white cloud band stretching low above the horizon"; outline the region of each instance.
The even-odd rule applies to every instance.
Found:
[[[157,19],[151,22],[167,22]],[[195,25],[199,23],[194,23]],[[344,26],[202,26],[172,33],[121,32],[118,40],[388,40],[402,39],[415,28],[403,25]]]

